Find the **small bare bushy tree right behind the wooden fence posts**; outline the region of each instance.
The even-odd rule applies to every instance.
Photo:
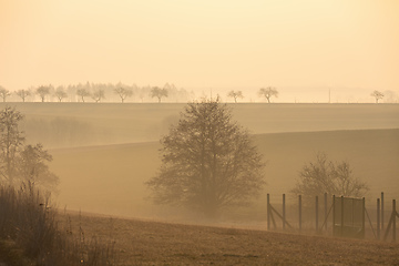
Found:
[[[334,163],[325,153],[318,153],[315,162],[304,165],[291,193],[303,195],[304,198],[313,198],[320,193],[360,197],[368,190],[366,183],[352,176],[347,161]]]

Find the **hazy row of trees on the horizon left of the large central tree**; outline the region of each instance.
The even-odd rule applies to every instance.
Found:
[[[94,102],[101,102],[105,99],[105,95],[117,96],[120,101],[123,103],[127,98],[132,98],[133,95],[139,98],[141,102],[144,101],[145,98],[157,99],[161,103],[163,99],[168,98],[170,95],[173,99],[181,99],[183,101],[188,101],[193,96],[193,92],[187,92],[186,90],[177,89],[174,84],[166,83],[163,88],[160,86],[142,86],[137,85],[126,85],[123,83],[117,84],[94,84],[94,83],[85,83],[78,85],[68,85],[68,86],[57,86],[53,85],[40,85],[38,88],[30,88],[28,90],[21,89],[14,92],[17,96],[19,96],[22,102],[30,96],[38,95],[41,102],[45,102],[48,98],[57,99],[57,101],[62,102],[65,100],[86,102],[89,99],[92,99]],[[12,93],[0,86],[0,98],[3,102],[7,101]],[[50,100],[52,101],[52,100]]]

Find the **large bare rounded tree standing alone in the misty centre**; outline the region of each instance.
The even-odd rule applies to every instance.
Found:
[[[213,217],[225,207],[248,204],[265,184],[262,155],[218,100],[188,103],[161,143],[160,173],[146,183],[156,203]]]

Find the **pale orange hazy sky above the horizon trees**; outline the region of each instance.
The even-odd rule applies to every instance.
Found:
[[[0,0],[0,85],[86,81],[399,91],[399,1]]]

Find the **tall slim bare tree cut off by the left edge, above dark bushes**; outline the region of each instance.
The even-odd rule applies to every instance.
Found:
[[[23,145],[24,136],[18,127],[23,115],[12,108],[0,112],[0,174],[10,184],[16,176],[16,156]]]

